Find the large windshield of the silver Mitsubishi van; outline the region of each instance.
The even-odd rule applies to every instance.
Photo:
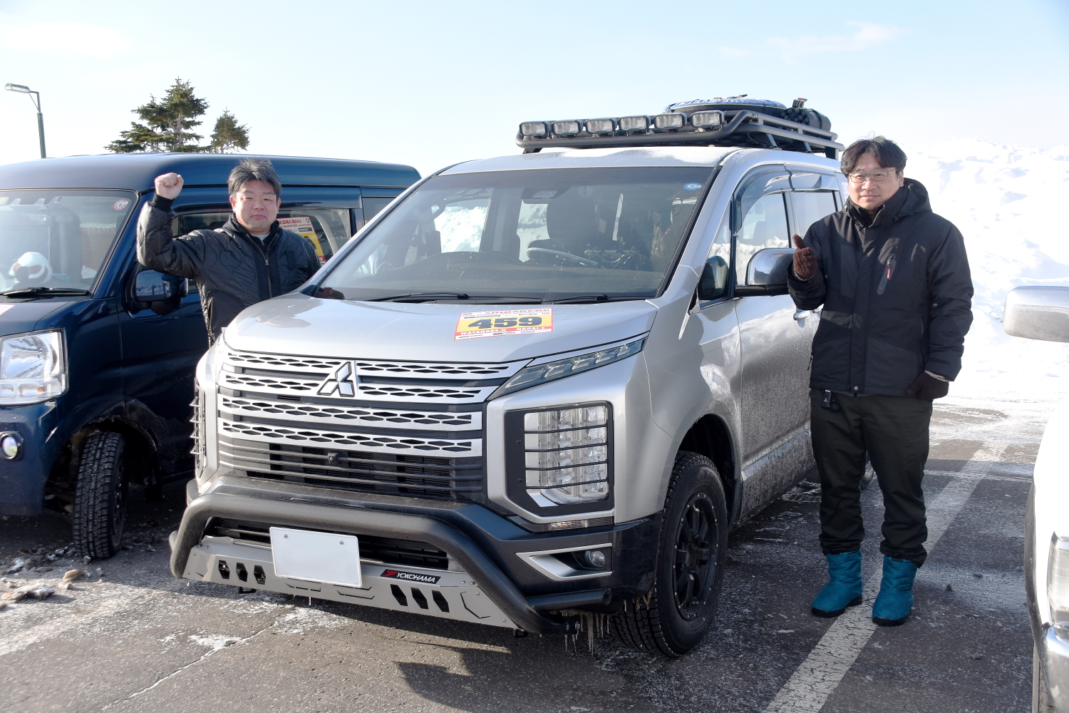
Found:
[[[710,168],[433,177],[329,275],[346,299],[652,297]]]

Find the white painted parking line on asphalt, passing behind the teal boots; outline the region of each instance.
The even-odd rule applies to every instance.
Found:
[[[986,441],[973,460],[962,468],[963,471],[967,470],[965,476],[972,477],[952,479],[939,495],[928,501],[928,541],[925,544],[929,554],[976,490],[982,476],[997,465],[1006,446],[1004,443]],[[876,631],[877,625],[872,623],[872,601],[880,591],[880,570],[869,577],[865,583],[861,606],[847,609],[846,614],[835,620],[809,656],[769,703],[765,713],[818,713],[824,707]]]

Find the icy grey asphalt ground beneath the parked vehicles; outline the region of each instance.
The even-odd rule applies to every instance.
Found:
[[[133,494],[124,549],[62,558],[13,585],[56,587],[0,610],[0,711],[1028,711],[1024,508],[1050,401],[936,404],[925,490],[939,534],[909,622],[817,619],[816,491],[803,484],[732,532],[713,630],[669,661],[611,636],[511,631],[272,593],[186,586],[166,536],[182,486]],[[880,563],[879,487],[864,495],[865,577]],[[0,561],[62,547],[60,515],[0,521]],[[100,573],[97,574],[97,568]],[[879,578],[874,580],[878,583]],[[10,591],[0,583],[0,593]]]

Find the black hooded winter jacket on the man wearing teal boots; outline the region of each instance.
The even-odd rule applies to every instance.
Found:
[[[969,259],[923,185],[907,179],[871,219],[848,201],[805,242],[819,269],[804,282],[791,269],[788,288],[799,309],[824,306],[811,388],[904,397],[925,370],[958,375],[973,322]]]

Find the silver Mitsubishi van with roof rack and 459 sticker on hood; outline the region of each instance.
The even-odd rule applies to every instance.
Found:
[[[173,573],[688,651],[729,528],[814,468],[790,236],[846,191],[803,105],[526,122],[242,312]]]

